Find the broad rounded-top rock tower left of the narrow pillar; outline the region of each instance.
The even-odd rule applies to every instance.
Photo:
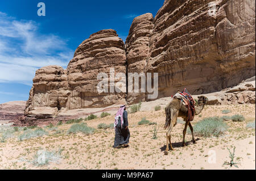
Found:
[[[125,45],[116,31],[102,30],[82,42],[68,64],[71,95],[67,108],[70,110],[125,103],[123,93],[99,94],[97,91],[97,75],[106,73],[110,77],[110,68],[113,68],[115,73],[126,73]]]

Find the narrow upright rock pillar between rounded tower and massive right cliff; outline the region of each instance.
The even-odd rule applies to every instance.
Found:
[[[126,39],[127,73],[145,73],[150,47],[150,35],[154,28],[153,20],[153,15],[147,13],[135,18],[131,24],[129,35]],[[141,85],[141,79],[139,79],[139,85]],[[139,87],[139,93],[135,93],[135,91],[127,92],[127,102],[145,101],[145,95]]]

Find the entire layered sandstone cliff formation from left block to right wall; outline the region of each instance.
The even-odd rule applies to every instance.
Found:
[[[114,30],[94,33],[67,70],[36,71],[25,115],[56,117],[63,110],[148,100],[147,93],[99,93],[97,75],[110,77],[110,68],[115,74],[158,73],[158,98],[184,87],[196,95],[235,86],[255,75],[255,1],[166,0],[155,18],[148,13],[133,20],[126,44]],[[126,83],[114,82],[120,80]]]

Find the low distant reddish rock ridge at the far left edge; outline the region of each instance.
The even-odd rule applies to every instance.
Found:
[[[13,101],[0,104],[0,120],[14,120],[24,116],[26,101]]]

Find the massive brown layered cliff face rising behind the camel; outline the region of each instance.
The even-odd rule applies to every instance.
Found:
[[[255,2],[166,0],[154,19],[146,71],[159,98],[205,94],[255,75]],[[209,4],[210,3],[210,4]]]

